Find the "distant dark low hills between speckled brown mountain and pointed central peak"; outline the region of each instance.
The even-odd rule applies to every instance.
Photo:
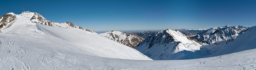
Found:
[[[155,32],[155,31],[143,31],[143,32],[132,32],[132,33],[129,33],[129,34],[137,35],[137,36],[140,36],[141,38],[147,38],[148,36],[153,35],[154,33],[157,33],[157,32]]]

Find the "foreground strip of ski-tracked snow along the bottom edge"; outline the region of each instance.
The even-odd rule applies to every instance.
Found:
[[[95,57],[59,52],[57,49],[39,49],[23,41],[1,37],[0,70],[254,70],[256,49],[217,57],[188,60],[130,60]],[[12,37],[12,39],[15,37]],[[19,38],[17,38],[19,39]],[[48,51],[46,51],[48,50]],[[50,50],[50,51],[49,51]],[[71,54],[71,55],[70,55]],[[243,55],[241,55],[243,54]],[[246,57],[246,58],[244,58]]]

